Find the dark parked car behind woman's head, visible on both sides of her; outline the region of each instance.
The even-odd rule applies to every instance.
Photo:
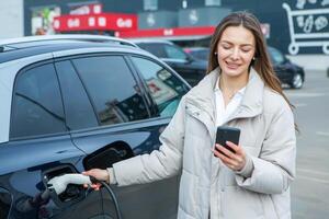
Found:
[[[269,55],[274,68],[274,71],[284,84],[288,84],[292,89],[300,89],[305,81],[305,71],[302,67],[293,64],[279,49],[269,46]],[[209,49],[206,47],[191,47],[184,50],[201,60],[208,59]]]

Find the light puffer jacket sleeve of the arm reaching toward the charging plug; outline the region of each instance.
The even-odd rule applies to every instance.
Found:
[[[184,102],[183,96],[174,116],[160,135],[159,150],[113,164],[112,175],[115,175],[118,186],[150,183],[179,173],[184,145]]]

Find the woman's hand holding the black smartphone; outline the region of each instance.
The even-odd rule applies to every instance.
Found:
[[[246,165],[246,153],[242,147],[239,147],[230,141],[226,141],[226,145],[230,147],[234,151],[227,150],[225,147],[216,143],[217,150],[214,150],[214,154],[222,160],[222,162],[232,171],[240,171]],[[220,151],[220,152],[219,152]]]

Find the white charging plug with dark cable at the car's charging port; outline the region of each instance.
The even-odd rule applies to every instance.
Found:
[[[57,195],[60,195],[61,193],[64,193],[66,191],[66,187],[68,186],[68,184],[91,185],[91,184],[95,184],[95,183],[100,183],[107,191],[107,193],[110,194],[110,196],[114,203],[116,217],[117,217],[117,219],[122,219],[121,210],[120,210],[115,194],[114,194],[113,189],[110,187],[110,185],[103,181],[99,181],[95,177],[82,175],[79,173],[69,173],[69,174],[64,174],[60,176],[53,177],[52,180],[49,180],[47,182],[47,186],[48,186],[48,189],[50,189],[50,191],[53,189],[53,191],[55,191],[55,193]]]

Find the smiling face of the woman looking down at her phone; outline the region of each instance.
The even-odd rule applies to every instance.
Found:
[[[248,74],[254,46],[253,34],[242,25],[226,27],[217,44],[217,59],[222,73],[228,77]]]

